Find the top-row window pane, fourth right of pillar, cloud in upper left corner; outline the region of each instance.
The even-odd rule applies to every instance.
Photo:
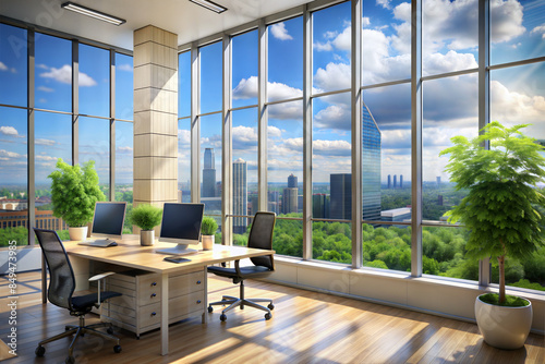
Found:
[[[269,101],[303,96],[303,17],[268,27]]]

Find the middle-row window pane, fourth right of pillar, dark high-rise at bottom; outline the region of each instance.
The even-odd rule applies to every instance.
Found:
[[[267,209],[277,215],[302,217],[303,102],[268,106]],[[301,191],[300,191],[301,187]],[[252,202],[252,215],[257,206]]]

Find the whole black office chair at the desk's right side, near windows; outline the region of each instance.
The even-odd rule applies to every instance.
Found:
[[[276,215],[275,213],[256,213],[254,220],[252,222],[252,228],[250,229],[250,235],[247,238],[247,246],[271,250],[272,248],[272,233],[275,231]],[[208,312],[213,312],[213,305],[228,305],[222,312],[219,318],[225,321],[227,319],[226,313],[237,306],[241,310],[245,305],[266,311],[265,319],[270,319],[270,311],[275,308],[272,300],[267,299],[244,299],[244,279],[247,278],[262,278],[270,275],[275,270],[275,262],[272,255],[258,256],[250,258],[253,266],[240,267],[240,260],[234,260],[234,268],[225,267],[208,267],[208,271],[215,274],[216,276],[231,278],[233,283],[240,282],[240,298],[233,298],[231,295],[223,295],[221,301],[213,302],[208,305]],[[268,302],[268,306],[262,306],[256,302]]]

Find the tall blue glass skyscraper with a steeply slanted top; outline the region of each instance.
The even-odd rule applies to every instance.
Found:
[[[363,105],[362,118],[362,198],[364,220],[380,220],[380,148],[382,135],[375,118]],[[388,175],[388,185],[389,183]],[[396,184],[396,177],[393,177]]]

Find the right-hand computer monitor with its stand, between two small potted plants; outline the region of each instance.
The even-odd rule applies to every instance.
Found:
[[[203,215],[204,204],[165,203],[159,241],[178,245],[159,250],[157,253],[184,255],[197,252],[187,248],[187,245],[199,243]]]

